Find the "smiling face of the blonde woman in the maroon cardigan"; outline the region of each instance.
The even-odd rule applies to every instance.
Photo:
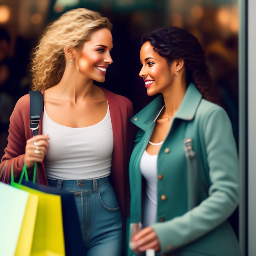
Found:
[[[91,39],[83,44],[76,59],[79,71],[90,79],[104,82],[108,65],[113,62],[110,56],[112,48],[112,34],[108,29],[94,32]]]

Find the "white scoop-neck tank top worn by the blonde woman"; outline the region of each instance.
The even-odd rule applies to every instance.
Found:
[[[93,126],[72,128],[56,124],[44,109],[43,134],[49,134],[45,155],[47,178],[92,180],[110,175],[113,132],[109,108]]]

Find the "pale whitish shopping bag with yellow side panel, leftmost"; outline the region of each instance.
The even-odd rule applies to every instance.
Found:
[[[38,197],[0,182],[0,205],[0,255],[29,255]],[[20,252],[24,239],[27,246]]]

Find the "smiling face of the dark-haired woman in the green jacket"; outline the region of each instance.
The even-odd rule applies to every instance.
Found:
[[[166,58],[155,52],[149,41],[141,47],[140,60],[142,68],[139,76],[144,79],[148,96],[168,90],[174,78],[173,64],[168,64]]]

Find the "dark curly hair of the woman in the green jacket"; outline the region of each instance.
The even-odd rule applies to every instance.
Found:
[[[155,29],[141,38],[149,41],[155,52],[171,63],[177,58],[184,59],[186,82],[193,82],[204,99],[219,104],[217,90],[206,64],[202,45],[198,38],[180,27]]]

